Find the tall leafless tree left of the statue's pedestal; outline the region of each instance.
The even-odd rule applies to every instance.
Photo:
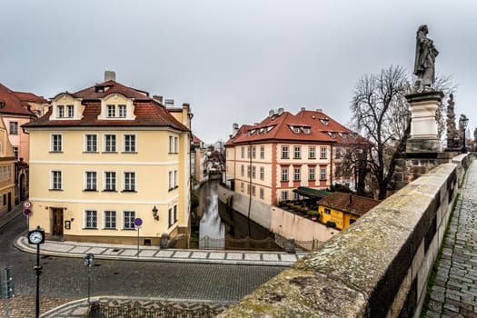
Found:
[[[379,184],[381,200],[410,134],[409,104],[404,97],[411,92],[408,78],[401,66],[391,66],[378,75],[363,75],[353,93],[351,124],[372,143],[367,166]]]

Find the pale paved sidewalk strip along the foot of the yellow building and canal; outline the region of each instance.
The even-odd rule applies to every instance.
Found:
[[[28,243],[26,234],[14,242],[16,248],[26,253],[36,253],[36,245]],[[306,253],[180,250],[160,249],[158,246],[113,245],[106,243],[78,243],[72,241],[45,241],[40,245],[42,255],[84,258],[93,253],[96,259],[148,262],[222,263],[268,266],[290,266]]]

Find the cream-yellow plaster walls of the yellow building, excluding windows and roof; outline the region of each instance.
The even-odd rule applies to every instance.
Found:
[[[63,153],[50,153],[52,133],[63,135]],[[118,153],[103,153],[104,134],[116,134]],[[156,236],[171,233],[178,224],[188,222],[189,198],[189,149],[186,134],[179,136],[174,131],[91,131],[97,134],[98,153],[84,152],[84,131],[31,131],[30,144],[35,156],[30,163],[30,201],[33,215],[30,228],[40,225],[49,233],[50,207],[67,207],[65,220],[74,219],[71,235],[136,235],[134,231],[120,230],[124,210],[135,211],[136,217],[144,221],[141,236]],[[123,134],[135,134],[136,153],[121,153]],[[169,135],[180,137],[179,154],[169,154]],[[184,170],[186,169],[186,170]],[[63,191],[50,191],[50,174],[60,170],[63,174]],[[168,172],[178,171],[178,189],[168,190]],[[97,172],[97,192],[84,192],[84,173]],[[118,192],[103,192],[104,171],[116,172]],[[136,192],[121,192],[123,173],[134,172]],[[78,195],[79,194],[79,195]],[[41,204],[41,205],[40,205]],[[178,205],[178,223],[168,227],[168,209]],[[156,206],[160,220],[153,218],[152,209]],[[84,210],[94,208],[98,212],[98,228],[101,227],[104,210],[115,210],[118,230],[84,230]],[[79,222],[78,220],[81,220]]]

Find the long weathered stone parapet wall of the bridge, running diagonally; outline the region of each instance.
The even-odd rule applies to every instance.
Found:
[[[219,317],[418,317],[471,160],[422,175]]]

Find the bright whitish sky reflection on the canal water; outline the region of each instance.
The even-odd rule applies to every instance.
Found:
[[[225,247],[225,226],[219,215],[219,204],[217,197],[217,184],[208,184],[209,195],[205,197],[204,204],[201,204],[202,218],[199,227],[199,239],[208,236],[209,238],[216,240],[223,240],[216,247]],[[203,240],[199,241],[199,248],[204,243]]]

